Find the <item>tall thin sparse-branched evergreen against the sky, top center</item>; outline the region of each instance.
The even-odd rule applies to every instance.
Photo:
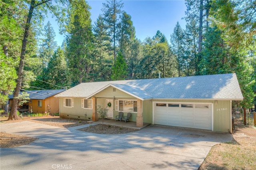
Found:
[[[118,0],[107,0],[106,3],[103,3],[103,16],[104,21],[107,26],[108,35],[111,37],[111,42],[113,43],[113,51],[114,51],[114,61],[116,60],[116,36],[119,31],[118,29],[118,20],[119,15],[122,13],[122,7],[124,3]]]

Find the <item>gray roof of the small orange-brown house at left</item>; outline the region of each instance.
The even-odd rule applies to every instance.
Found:
[[[65,89],[61,89],[61,90],[26,90],[25,92],[27,92],[29,94],[30,99],[44,100],[46,98],[54,96],[63,91],[65,91]],[[13,94],[9,95],[8,97],[9,97],[9,99],[13,99]]]

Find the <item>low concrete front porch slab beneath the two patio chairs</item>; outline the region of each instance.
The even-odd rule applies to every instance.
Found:
[[[98,119],[98,121],[88,121],[88,123],[102,123],[102,119]],[[129,127],[134,129],[143,129],[144,127],[150,125],[150,123],[143,123],[142,127],[137,127],[136,122],[134,121],[127,121],[126,123],[124,121],[115,121],[114,119],[104,119],[103,124],[105,125],[113,125],[113,126],[119,126],[119,127]]]

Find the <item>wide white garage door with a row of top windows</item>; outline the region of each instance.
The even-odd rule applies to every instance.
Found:
[[[212,104],[154,102],[154,124],[212,130]]]

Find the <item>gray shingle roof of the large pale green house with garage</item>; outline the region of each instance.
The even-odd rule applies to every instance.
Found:
[[[105,86],[118,88],[143,99],[243,100],[235,73],[160,79],[82,83],[56,97],[88,97]]]

